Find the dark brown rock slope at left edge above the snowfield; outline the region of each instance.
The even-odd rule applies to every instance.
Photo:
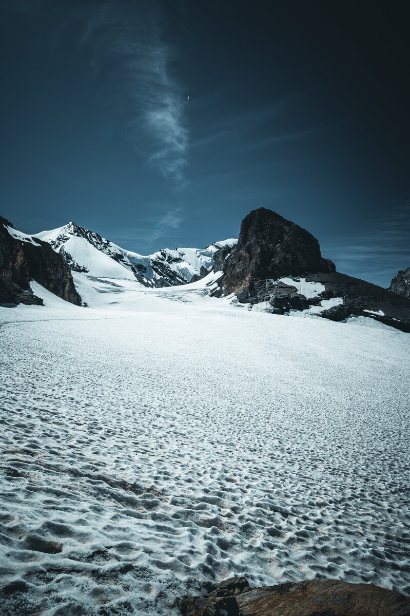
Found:
[[[30,290],[35,280],[65,301],[81,305],[73,277],[63,258],[51,246],[37,238],[24,241],[13,237],[6,227],[14,229],[0,216],[0,304],[39,304],[42,299]]]

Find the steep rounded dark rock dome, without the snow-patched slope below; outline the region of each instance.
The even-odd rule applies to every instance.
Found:
[[[259,208],[242,221],[238,244],[225,265],[223,288],[240,293],[241,301],[246,301],[254,279],[335,269],[332,261],[323,259],[319,242],[311,233],[270,209]]]

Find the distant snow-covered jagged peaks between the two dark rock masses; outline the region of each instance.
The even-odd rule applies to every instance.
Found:
[[[125,250],[74,222],[42,231],[36,237],[48,242],[74,272],[96,278],[137,280],[148,287],[184,285],[198,280],[212,269],[216,251],[236,243],[235,239],[229,239],[204,249],[164,248],[143,256]]]

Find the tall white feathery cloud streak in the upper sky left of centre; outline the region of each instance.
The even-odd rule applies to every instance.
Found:
[[[175,187],[184,188],[186,100],[172,74],[174,50],[163,39],[159,5],[139,2],[130,10],[121,2],[106,2],[89,20],[82,44],[92,48],[92,67],[103,79],[103,93],[126,111],[127,136],[135,150]]]

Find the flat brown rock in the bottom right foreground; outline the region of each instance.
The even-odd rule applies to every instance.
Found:
[[[204,597],[177,601],[183,616],[409,616],[410,599],[392,590],[342,580],[250,588],[230,578]]]

